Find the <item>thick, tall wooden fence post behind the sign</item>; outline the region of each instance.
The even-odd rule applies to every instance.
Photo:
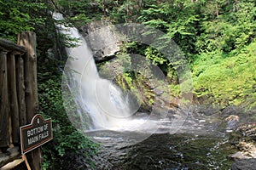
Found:
[[[37,55],[36,34],[34,32],[21,32],[18,35],[18,44],[26,48],[24,58],[25,94],[26,94],[26,120],[38,113],[38,80],[37,80]],[[42,156],[40,148],[27,154],[27,159],[33,170],[42,169]]]

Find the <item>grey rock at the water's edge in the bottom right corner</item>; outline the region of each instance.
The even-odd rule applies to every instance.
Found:
[[[237,160],[231,166],[231,170],[255,170],[255,169],[256,169],[256,159]]]

